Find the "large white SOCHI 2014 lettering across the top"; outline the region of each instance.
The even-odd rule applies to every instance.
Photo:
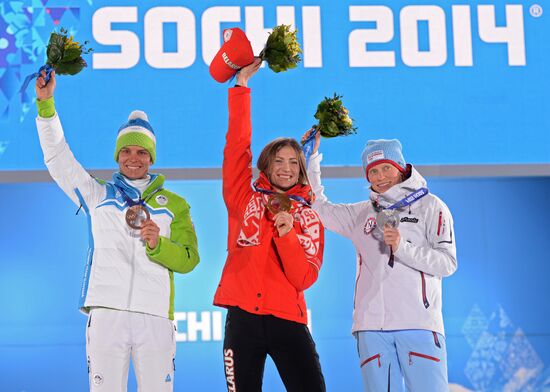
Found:
[[[534,7],[534,6],[533,6]],[[533,17],[542,14],[542,8],[529,10]],[[298,27],[303,47],[305,68],[323,67],[330,61],[323,50],[324,29],[321,6],[276,6],[277,24]],[[409,67],[440,67],[448,64],[452,54],[454,66],[469,67],[475,62],[473,42],[507,47],[506,63],[510,66],[526,65],[524,18],[526,7],[521,4],[503,5],[498,10],[505,15],[504,23],[497,23],[495,5],[406,5],[393,10],[385,5],[353,5],[348,7],[347,20],[339,21],[341,28],[349,28],[347,42],[350,67],[395,67],[397,57]],[[93,14],[94,40],[104,46],[117,46],[118,51],[105,52],[99,46],[93,54],[95,69],[128,69],[145,61],[153,68],[183,69],[197,61],[200,52],[209,64],[220,47],[221,25],[244,22],[246,33],[258,53],[270,29],[264,22],[266,7],[215,6],[201,15],[183,6],[149,8],[138,18],[138,7],[103,7]],[[301,15],[297,24],[296,15]],[[244,20],[241,15],[244,12]],[[328,18],[326,23],[328,23]],[[334,21],[330,21],[333,23]],[[118,25],[142,24],[140,36]],[[176,26],[177,48],[164,51],[163,25]],[[200,30],[197,28],[200,23]],[[197,36],[200,31],[200,40]],[[422,47],[422,35],[427,43]],[[173,37],[172,37],[173,38]],[[174,38],[173,38],[174,39]],[[400,50],[379,49],[380,44],[398,41]],[[143,44],[143,45],[142,45]],[[140,48],[143,47],[143,55]],[[143,58],[143,60],[142,60]]]

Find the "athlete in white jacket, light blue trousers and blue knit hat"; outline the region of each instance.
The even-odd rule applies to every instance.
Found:
[[[321,185],[319,140],[308,165],[313,208],[327,229],[355,245],[352,332],[365,390],[448,390],[441,280],[457,268],[449,209],[405,163],[398,140],[367,143],[370,200],[331,203]]]

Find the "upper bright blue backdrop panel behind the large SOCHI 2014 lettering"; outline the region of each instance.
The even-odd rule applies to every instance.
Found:
[[[359,164],[368,138],[389,137],[401,139],[405,156],[416,164],[550,162],[550,117],[544,115],[549,111],[550,78],[544,75],[550,23],[537,5],[387,0],[376,4],[389,17],[375,22],[372,9],[357,15],[353,8],[370,3],[350,0],[290,6],[274,0],[142,0],[119,5],[135,12],[136,22],[113,19],[114,32],[101,34],[101,15],[115,15],[106,8],[113,6],[110,1],[78,2],[69,10],[62,0],[47,2],[48,9],[40,1],[32,7],[19,4],[5,2],[0,12],[0,170],[43,168],[34,130],[34,91],[31,85],[21,97],[17,90],[22,77],[44,61],[48,36],[59,26],[69,28],[77,40],[89,40],[95,50],[86,56],[89,67],[82,73],[59,78],[55,94],[67,139],[84,166],[113,167],[111,147],[105,146],[114,148],[118,127],[137,108],[148,113],[158,136],[159,167],[220,166],[225,90],[231,83],[220,85],[210,77],[205,46],[221,42],[218,25],[250,25],[249,35],[262,42],[265,35],[255,34],[253,26],[274,26],[278,11],[293,12],[298,38],[309,46],[303,45],[304,62],[298,69],[282,74],[262,69],[252,81],[256,152],[277,136],[299,138],[314,124],[317,103],[336,91],[344,95],[359,135],[330,141],[328,164]],[[282,6],[290,8],[277,8]],[[151,16],[162,7],[172,8],[162,17]],[[219,11],[219,24],[214,7],[235,7],[236,13]],[[318,7],[318,21],[311,7]],[[256,11],[263,17],[255,17]],[[511,42],[491,42],[502,41],[490,32],[495,24],[509,29],[498,35]],[[482,35],[485,30],[489,33]],[[121,46],[115,33],[130,37],[127,41],[134,40],[136,48]],[[418,56],[410,54],[415,46]],[[176,59],[160,58],[154,48]],[[380,52],[391,52],[393,64],[369,57]],[[94,57],[117,53],[113,64],[123,69],[101,66]]]

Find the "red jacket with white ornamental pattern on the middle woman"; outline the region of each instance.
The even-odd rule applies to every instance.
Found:
[[[250,89],[229,89],[229,129],[223,161],[223,197],[228,211],[228,255],[214,305],[238,306],[254,314],[307,323],[303,291],[322,264],[324,232],[319,216],[292,202],[294,228],[279,237],[265,205],[269,195],[255,190],[250,141]],[[259,188],[270,188],[263,175]],[[286,192],[311,201],[309,185]]]

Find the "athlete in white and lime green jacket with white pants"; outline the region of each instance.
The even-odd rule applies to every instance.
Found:
[[[189,205],[164,188],[164,176],[149,174],[156,139],[140,111],[119,130],[120,171],[113,182],[91,177],[65,141],[53,102],[55,82],[54,73],[48,84],[37,79],[36,125],[48,171],[88,218],[80,306],[89,313],[90,390],[126,391],[131,357],[140,391],[172,391],[174,272],[189,272],[199,262]],[[131,214],[136,209],[149,216],[139,222]]]

